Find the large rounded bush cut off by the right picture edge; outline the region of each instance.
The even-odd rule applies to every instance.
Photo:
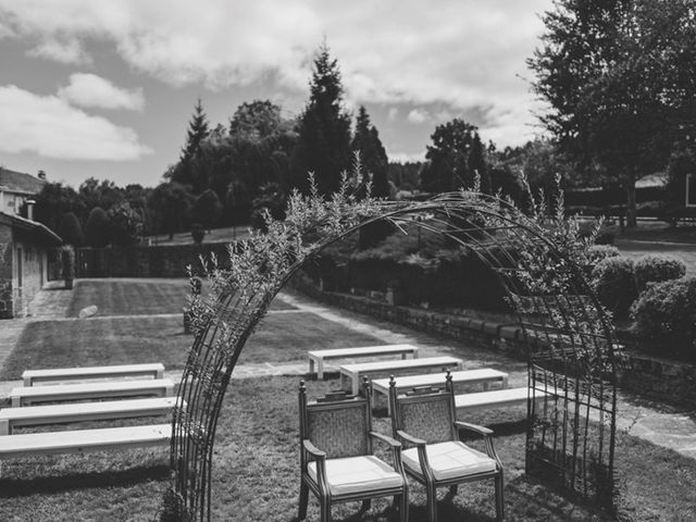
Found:
[[[667,355],[696,346],[696,277],[650,285],[631,308],[635,333]]]

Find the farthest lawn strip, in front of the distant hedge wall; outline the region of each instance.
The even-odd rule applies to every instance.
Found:
[[[97,315],[183,313],[190,291],[187,278],[79,281],[73,289],[66,316],[76,318],[83,308],[92,304],[97,306]],[[271,304],[272,310],[293,308],[281,299]]]

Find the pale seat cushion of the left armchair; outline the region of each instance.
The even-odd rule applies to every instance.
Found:
[[[307,465],[316,482],[316,463]],[[394,469],[372,455],[326,460],[326,482],[332,495],[346,495],[388,487],[400,487],[403,480]]]

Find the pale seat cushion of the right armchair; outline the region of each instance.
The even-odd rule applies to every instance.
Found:
[[[460,442],[430,444],[425,447],[427,461],[436,481],[464,477],[496,470],[496,461]],[[407,471],[423,475],[418,459],[418,448],[401,452]]]

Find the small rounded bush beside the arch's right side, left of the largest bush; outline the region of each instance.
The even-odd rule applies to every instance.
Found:
[[[633,260],[609,257],[592,271],[592,284],[599,301],[617,318],[627,318],[631,303],[637,297]]]

